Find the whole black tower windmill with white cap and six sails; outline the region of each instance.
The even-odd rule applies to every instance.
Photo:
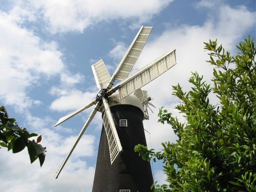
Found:
[[[152,27],[140,28],[112,76],[102,59],[96,62],[92,66],[99,89],[96,98],[83,108],[60,118],[54,125],[57,126],[95,105],[70,152],[56,172],[56,179],[95,114],[100,111],[103,124],[93,191],[150,191],[153,183],[150,163],[143,161],[133,151],[135,144],[146,145],[142,120],[148,118],[146,107],[150,99],[140,88],[176,65],[175,50],[172,50],[128,77],[151,30]],[[120,82],[113,86],[116,79]],[[115,93],[116,91],[118,93]]]

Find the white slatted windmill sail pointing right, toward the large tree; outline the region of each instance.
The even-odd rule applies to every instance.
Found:
[[[119,99],[122,99],[142,88],[145,84],[151,82],[174,65],[176,65],[175,50],[164,54],[131,77],[121,81],[113,89],[109,90],[108,94],[112,94],[118,90]]]

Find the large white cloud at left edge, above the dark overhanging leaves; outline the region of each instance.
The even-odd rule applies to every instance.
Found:
[[[27,89],[35,86],[40,78],[59,74],[64,68],[61,53],[55,42],[44,42],[12,20],[12,16],[0,12],[0,62],[3,82],[0,99],[5,104],[23,109],[34,101]]]

